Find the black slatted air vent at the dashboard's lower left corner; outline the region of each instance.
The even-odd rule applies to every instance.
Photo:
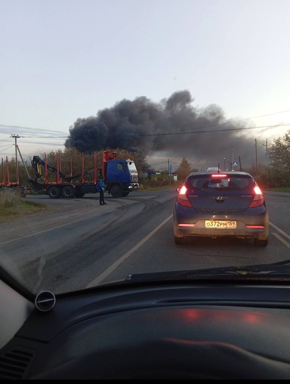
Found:
[[[35,357],[31,349],[14,347],[0,356],[0,379],[20,380]]]

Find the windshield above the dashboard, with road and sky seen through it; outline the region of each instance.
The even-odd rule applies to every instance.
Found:
[[[289,0],[2,0],[0,29],[0,280],[283,275]]]

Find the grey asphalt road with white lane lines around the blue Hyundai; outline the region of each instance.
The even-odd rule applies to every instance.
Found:
[[[265,195],[270,217],[266,248],[253,240],[195,238],[175,245],[175,190],[135,192],[128,197],[26,199],[51,205],[49,212],[0,224],[1,265],[35,293],[61,293],[129,274],[274,263],[290,258],[290,197]]]

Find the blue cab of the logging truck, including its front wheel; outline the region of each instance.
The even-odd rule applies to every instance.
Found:
[[[109,160],[106,169],[108,193],[113,197],[128,196],[129,192],[139,188],[138,172],[134,161]]]

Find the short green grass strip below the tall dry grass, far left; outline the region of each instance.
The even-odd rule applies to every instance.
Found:
[[[46,204],[21,200],[14,207],[0,207],[0,223],[48,209],[50,209],[50,207]]]

